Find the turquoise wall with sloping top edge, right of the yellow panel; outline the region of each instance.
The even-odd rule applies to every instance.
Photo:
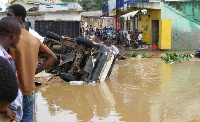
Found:
[[[161,3],[161,19],[172,20],[172,50],[194,50],[200,45],[200,25]]]

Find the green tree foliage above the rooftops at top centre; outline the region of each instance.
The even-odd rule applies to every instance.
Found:
[[[103,6],[108,3],[108,0],[61,0],[62,2],[79,2],[86,11],[102,10]]]

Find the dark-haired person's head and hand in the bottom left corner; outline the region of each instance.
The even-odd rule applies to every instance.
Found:
[[[15,114],[8,115],[8,107],[16,99],[18,94],[17,77],[9,62],[0,57],[0,120],[10,122],[14,120]],[[6,116],[5,116],[6,115]],[[9,117],[9,118],[6,118]]]

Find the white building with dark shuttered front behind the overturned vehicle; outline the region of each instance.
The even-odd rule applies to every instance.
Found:
[[[23,5],[27,10],[26,20],[30,21],[31,27],[42,36],[51,31],[60,36],[78,37],[82,7],[77,2],[59,2],[59,0],[57,3],[48,0],[12,0],[7,5]],[[5,12],[0,13],[0,18],[3,16],[6,16]]]

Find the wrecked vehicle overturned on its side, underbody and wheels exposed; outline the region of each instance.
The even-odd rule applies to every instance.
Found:
[[[57,56],[57,62],[47,72],[60,76],[63,80],[102,82],[109,77],[119,50],[92,42],[84,37],[69,38],[47,32],[43,42]]]

